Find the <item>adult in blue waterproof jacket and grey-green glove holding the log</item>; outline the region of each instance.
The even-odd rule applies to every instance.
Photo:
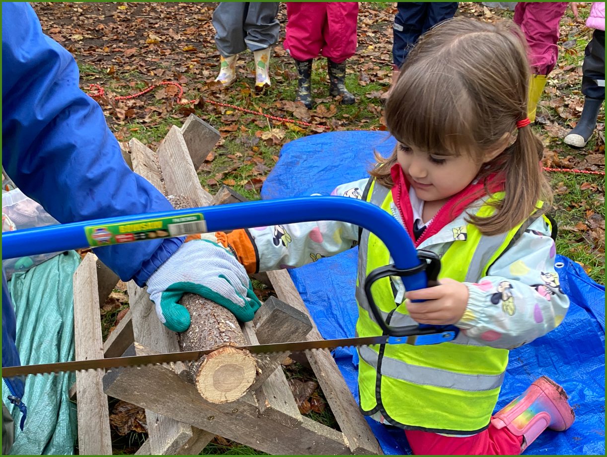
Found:
[[[169,201],[126,165],[103,111],[78,81],[72,55],[42,33],[32,7],[3,3],[4,171],[61,223],[171,210]],[[158,317],[174,331],[189,327],[188,311],[177,303],[185,291],[211,297],[241,320],[250,320],[259,307],[242,265],[210,242],[149,240],[97,248],[95,254],[122,280],[147,285]],[[3,268],[3,367],[20,364],[15,335]],[[20,404],[23,381],[5,382],[10,401]]]

